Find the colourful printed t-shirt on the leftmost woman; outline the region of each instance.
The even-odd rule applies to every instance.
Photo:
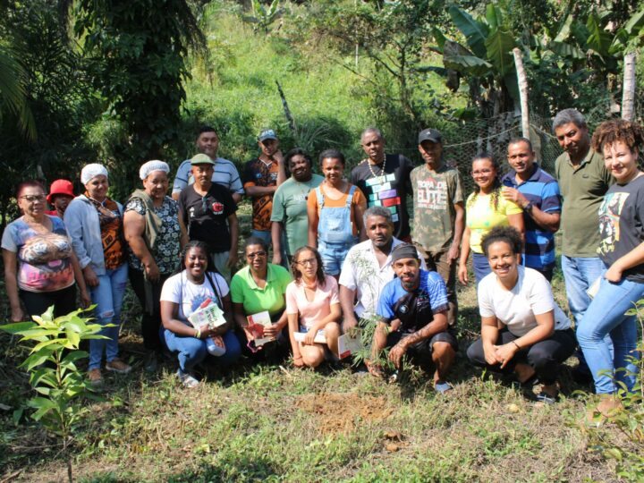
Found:
[[[55,292],[74,283],[72,242],[63,220],[49,216],[52,231],[34,229],[22,217],[4,228],[2,248],[18,259],[18,287],[27,292]]]

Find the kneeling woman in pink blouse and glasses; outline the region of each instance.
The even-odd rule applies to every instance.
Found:
[[[286,315],[296,367],[316,368],[325,360],[325,349],[337,355],[340,336],[340,300],[335,278],[325,275],[318,250],[305,246],[295,251],[291,264],[293,282],[286,287]],[[305,333],[297,342],[295,333]],[[315,343],[316,335],[326,343]]]

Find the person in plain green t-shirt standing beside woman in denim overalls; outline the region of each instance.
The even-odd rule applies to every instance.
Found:
[[[288,166],[291,177],[277,187],[273,196],[271,237],[273,263],[287,267],[295,250],[309,242],[307,199],[309,191],[317,188],[324,181],[324,176],[312,173],[311,158],[301,148],[286,153],[284,164]],[[284,254],[288,259],[284,259]]]

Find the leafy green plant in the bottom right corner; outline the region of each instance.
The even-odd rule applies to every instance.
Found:
[[[637,316],[640,328],[644,327],[644,299],[637,301],[635,307],[626,312],[626,315]],[[641,334],[641,333],[640,333]],[[640,343],[637,352],[644,352],[644,342],[640,336]],[[606,459],[614,460],[616,474],[619,479],[625,481],[644,481],[644,454],[641,452],[644,445],[644,360],[641,357],[631,357],[630,362],[635,366],[636,382],[631,392],[623,387],[623,408],[613,411],[605,416],[606,422],[610,422],[617,428],[623,437],[615,437],[607,432],[602,426],[591,426],[588,428],[589,446],[596,452],[601,453]],[[617,369],[621,372],[631,371],[628,369]]]

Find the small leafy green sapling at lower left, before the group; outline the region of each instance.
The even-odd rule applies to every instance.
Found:
[[[35,410],[32,419],[61,438],[64,452],[74,428],[89,411],[82,399],[102,399],[76,366],[78,360],[88,357],[87,352],[79,350],[81,341],[106,338],[98,335],[103,326],[89,324],[90,318],[80,317],[82,312],[79,309],[54,318],[52,306],[42,316],[34,316],[33,322],[0,326],[5,332],[21,335],[21,342],[36,343],[20,366],[30,373],[30,385],[38,393],[27,401],[27,407]],[[14,412],[15,421],[21,419],[22,411]],[[67,476],[72,481],[71,458],[67,461]]]

